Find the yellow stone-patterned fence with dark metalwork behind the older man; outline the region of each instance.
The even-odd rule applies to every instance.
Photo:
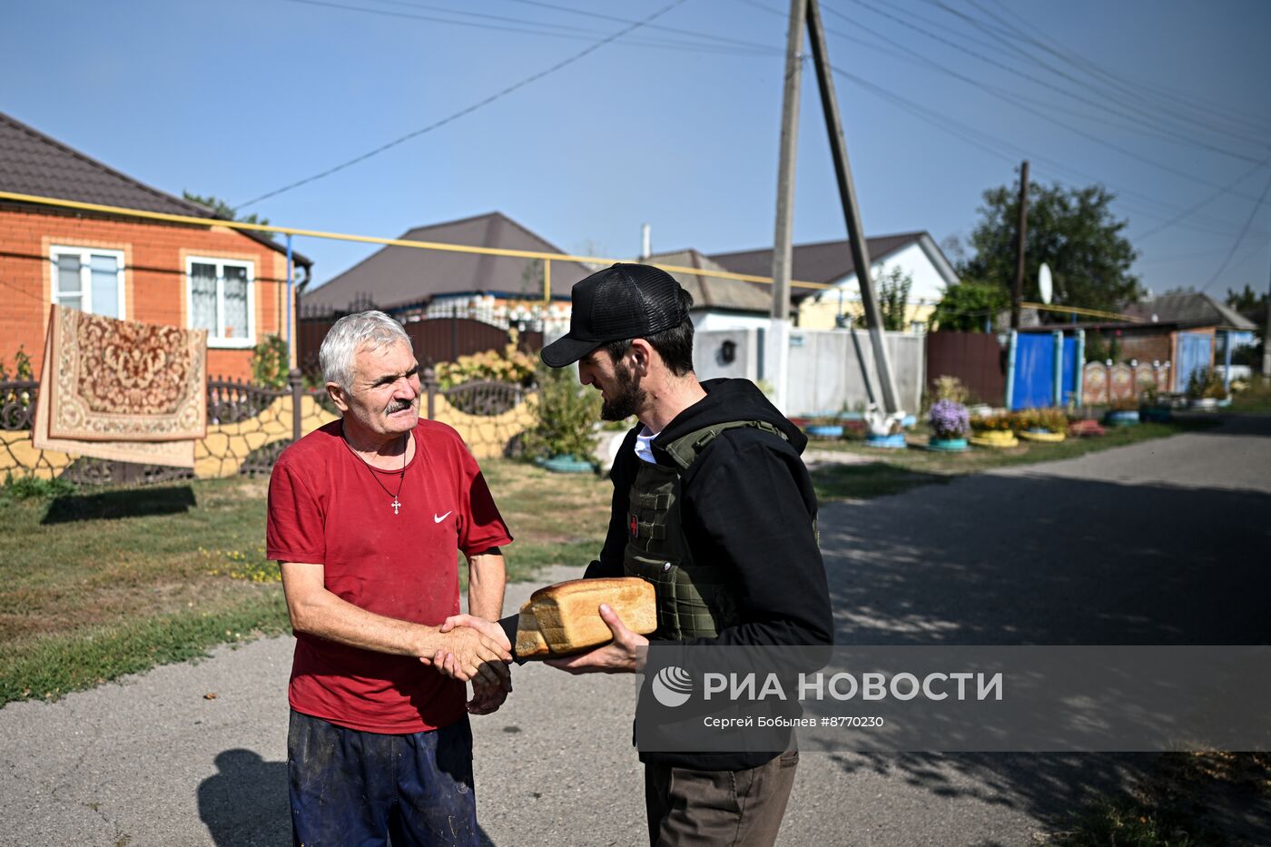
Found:
[[[207,435],[196,444],[194,468],[173,468],[36,450],[31,429],[38,392],[37,382],[0,382],[0,476],[118,485],[267,474],[287,445],[339,417],[327,392],[306,389],[299,371],[281,389],[212,378],[207,382]],[[478,458],[491,458],[505,455],[533,426],[530,394],[521,385],[497,382],[442,389],[427,369],[419,411],[454,426]]]

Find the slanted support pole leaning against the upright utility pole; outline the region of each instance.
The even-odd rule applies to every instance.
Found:
[[[817,0],[807,0],[807,34],[812,42],[812,59],[816,65],[816,81],[821,90],[821,111],[825,113],[825,130],[830,136],[830,153],[834,158],[834,174],[839,186],[839,200],[843,203],[843,217],[848,224],[848,240],[852,244],[852,261],[857,266],[857,282],[860,286],[860,304],[864,306],[866,322],[869,328],[869,341],[873,346],[874,368],[878,371],[878,385],[882,390],[883,411],[899,412],[900,394],[891,373],[891,356],[887,355],[887,340],[882,334],[882,313],[874,294],[873,268],[869,265],[869,249],[866,245],[864,230],[860,228],[860,207],[857,205],[857,189],[852,181],[852,165],[848,163],[848,145],[843,137],[843,121],[839,117],[839,98],[834,93],[834,75],[830,67],[830,53],[825,47],[825,28],[821,25],[821,8]],[[1026,165],[1027,167],[1027,165]],[[862,368],[864,361],[862,360]],[[866,384],[869,379],[866,376]]]

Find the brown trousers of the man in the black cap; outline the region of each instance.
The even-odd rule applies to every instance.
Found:
[[[644,764],[653,847],[771,847],[794,785],[798,750],[749,771]]]

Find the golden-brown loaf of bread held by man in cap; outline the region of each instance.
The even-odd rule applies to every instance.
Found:
[[[657,628],[653,584],[636,576],[569,580],[540,588],[521,607],[516,656],[547,659],[590,650],[613,640],[600,617],[606,603],[628,630],[648,635]]]

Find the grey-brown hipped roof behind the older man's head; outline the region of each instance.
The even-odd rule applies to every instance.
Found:
[[[496,247],[559,253],[502,212],[417,226],[402,235],[418,242]],[[304,295],[305,305],[346,309],[351,303],[374,303],[391,309],[445,294],[505,294],[543,296],[543,277],[533,259],[478,253],[451,253],[414,247],[385,247],[324,285]],[[567,261],[552,262],[552,294],[568,298],[573,284],[591,270]]]

